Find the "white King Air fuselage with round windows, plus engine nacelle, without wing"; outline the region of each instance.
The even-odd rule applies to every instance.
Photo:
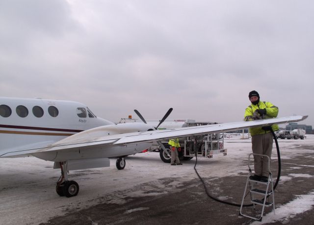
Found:
[[[102,129],[97,129],[97,127],[102,127]],[[150,144],[107,146],[101,149],[97,146],[91,146],[79,151],[67,150],[32,154],[27,154],[27,150],[22,151],[22,149],[42,148],[65,138],[67,140],[78,139],[78,135],[85,137],[92,134],[94,137],[101,137],[147,131],[149,128],[151,127],[144,123],[114,124],[95,116],[86,105],[78,102],[0,97],[1,157],[32,155],[48,161],[62,162],[129,155],[148,148]],[[85,130],[88,131],[84,133]],[[25,155],[13,156],[10,154],[10,152],[17,151],[21,151],[21,154],[25,153]]]

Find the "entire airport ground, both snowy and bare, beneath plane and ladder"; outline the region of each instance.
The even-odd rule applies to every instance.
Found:
[[[262,222],[239,215],[239,206],[207,196],[193,169],[195,158],[182,166],[163,163],[158,153],[126,158],[123,170],[109,168],[71,171],[80,186],[78,196],[59,197],[60,176],[52,162],[30,158],[0,159],[0,224],[5,225],[312,225],[314,221],[314,135],[306,140],[279,140],[281,176],[275,190],[275,214],[266,207]],[[209,194],[240,204],[248,176],[249,139],[225,139],[227,156],[199,158],[196,169]],[[277,178],[273,149],[271,171]],[[249,195],[245,204],[250,203]],[[261,207],[243,213],[261,215]]]

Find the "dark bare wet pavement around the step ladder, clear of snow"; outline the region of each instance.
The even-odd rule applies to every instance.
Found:
[[[314,174],[314,146],[306,145],[306,142],[297,145],[298,148],[307,148],[312,152],[306,156],[296,154],[292,158],[283,157],[281,160],[282,170],[281,177],[284,182],[279,182],[275,190],[275,205],[280,211],[281,206],[287,205],[291,200],[298,196],[313,193],[314,179],[308,175]],[[293,145],[293,142],[291,142]],[[293,146],[292,146],[293,147]],[[277,174],[277,162],[272,162],[272,171]],[[245,162],[243,161],[243,165]],[[299,174],[299,175],[291,175]],[[290,177],[289,179],[286,179]],[[247,179],[247,173],[239,172],[237,175],[225,177],[204,178],[211,195],[220,199],[241,203],[244,185]],[[171,185],[173,182],[181,182],[178,178],[158,179],[163,185]],[[150,196],[147,191],[147,197],[127,197],[126,203],[101,203],[86,209],[68,212],[64,216],[50,219],[42,225],[113,225],[113,224],[141,224],[141,225],[159,225],[159,224],[182,224],[182,225],[202,225],[202,224],[219,224],[219,225],[246,225],[246,224],[285,224],[285,225],[313,225],[314,208],[312,207],[305,212],[290,215],[287,213],[286,218],[280,217],[276,220],[276,214],[273,214],[272,207],[266,207],[264,215],[266,220],[258,222],[250,218],[239,216],[239,207],[223,204],[212,200],[207,196],[204,187],[199,179],[192,179],[183,182],[180,187],[173,188],[170,192],[162,194],[158,190],[156,182],[148,182],[131,189],[118,191],[111,195],[123,197],[129,192],[136,190],[152,190],[160,192],[159,195]],[[209,192],[210,192],[209,191]],[[249,203],[246,201],[245,203]],[[299,205],[291,204],[290,210],[298,211]],[[286,209],[284,209],[286,210]],[[245,213],[253,217],[261,215],[261,208],[255,210],[252,207],[245,208]],[[263,218],[264,219],[264,218]],[[277,218],[278,219],[278,218]]]

